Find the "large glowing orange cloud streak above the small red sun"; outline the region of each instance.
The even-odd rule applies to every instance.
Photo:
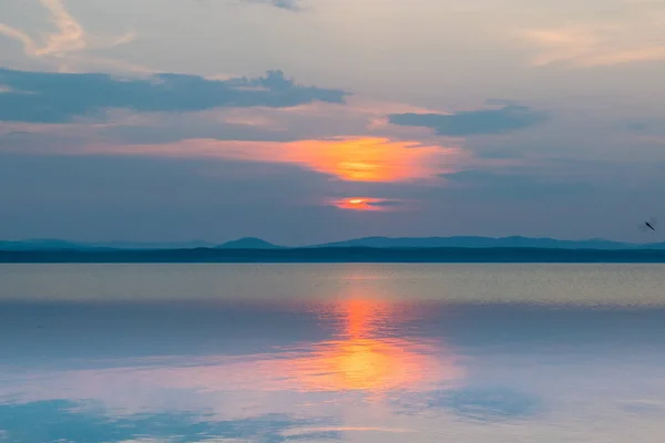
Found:
[[[166,145],[101,145],[93,147],[92,152],[289,163],[348,182],[437,178],[440,174],[459,171],[460,164],[470,158],[459,147],[381,137],[334,137],[288,143],[187,140]]]

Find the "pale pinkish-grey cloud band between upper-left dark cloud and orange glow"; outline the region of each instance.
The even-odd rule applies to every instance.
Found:
[[[9,90],[6,87],[4,92]],[[3,91],[1,86],[0,91]],[[43,144],[43,137],[48,137],[49,145],[53,146],[62,138],[69,138],[69,144],[103,140],[110,144],[133,145],[166,144],[190,138],[295,142],[347,134],[417,140],[424,144],[442,142],[427,128],[388,124],[386,114],[395,112],[431,110],[383,102],[367,103],[356,95],[346,99],[344,106],[319,101],[290,107],[217,107],[187,113],[137,114],[130,110],[112,110],[105,112],[103,122],[0,122],[0,145]],[[448,142],[447,145],[457,145],[458,141]]]

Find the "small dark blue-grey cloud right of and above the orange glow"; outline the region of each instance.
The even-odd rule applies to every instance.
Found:
[[[456,114],[390,114],[389,122],[400,126],[430,127],[439,135],[500,134],[533,126],[545,120],[528,106],[505,105],[499,110],[462,111]]]

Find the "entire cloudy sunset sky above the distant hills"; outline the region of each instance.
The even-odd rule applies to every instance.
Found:
[[[663,240],[665,0],[4,0],[0,238]]]

